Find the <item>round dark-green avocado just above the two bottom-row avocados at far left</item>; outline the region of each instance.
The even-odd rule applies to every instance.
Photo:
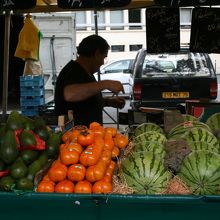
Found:
[[[23,161],[16,161],[11,165],[10,175],[14,179],[20,179],[27,175],[28,168]]]

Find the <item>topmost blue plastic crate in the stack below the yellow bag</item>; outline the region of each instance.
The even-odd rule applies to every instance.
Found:
[[[40,75],[20,76],[20,87],[22,86],[43,86],[44,77]]]

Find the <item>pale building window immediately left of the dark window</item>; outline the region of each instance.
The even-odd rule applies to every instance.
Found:
[[[123,11],[110,11],[111,30],[122,30],[124,28]]]

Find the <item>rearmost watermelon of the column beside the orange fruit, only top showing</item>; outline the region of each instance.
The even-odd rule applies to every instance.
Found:
[[[138,136],[144,132],[148,132],[148,131],[157,131],[161,134],[164,133],[163,129],[155,124],[155,123],[152,123],[152,122],[146,122],[146,123],[142,123],[140,125],[138,125],[135,129],[134,129],[134,132],[133,132],[133,136]]]

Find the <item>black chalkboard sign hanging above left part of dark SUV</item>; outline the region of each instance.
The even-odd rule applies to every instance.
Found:
[[[146,9],[147,52],[163,53],[180,50],[179,8]]]

